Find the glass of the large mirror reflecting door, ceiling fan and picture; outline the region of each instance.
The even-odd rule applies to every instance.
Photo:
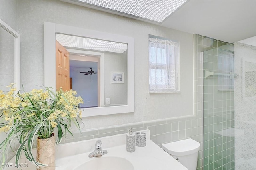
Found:
[[[83,108],[127,105],[126,43],[56,34],[57,43],[57,89],[77,91]]]

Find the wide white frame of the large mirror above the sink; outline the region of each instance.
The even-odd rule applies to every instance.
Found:
[[[44,22],[44,86],[56,88],[55,34],[68,34],[128,44],[127,105],[84,108],[82,117],[134,112],[134,38],[88,30],[51,22]]]

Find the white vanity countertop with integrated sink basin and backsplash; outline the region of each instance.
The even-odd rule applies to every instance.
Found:
[[[126,134],[59,144],[55,153],[55,170],[187,170],[150,140],[149,130],[140,132],[146,133],[147,145],[136,147],[132,153],[126,151]],[[102,141],[102,149],[108,153],[89,158],[88,155],[95,150],[97,140]],[[32,153],[36,157],[36,149],[33,149]],[[9,163],[15,165],[15,157]],[[28,162],[24,154],[20,163],[27,164],[22,170],[36,170],[36,166]],[[4,169],[17,170],[16,167]]]

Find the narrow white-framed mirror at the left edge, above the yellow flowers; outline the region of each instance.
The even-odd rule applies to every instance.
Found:
[[[0,89],[9,83],[20,89],[20,34],[0,20]]]

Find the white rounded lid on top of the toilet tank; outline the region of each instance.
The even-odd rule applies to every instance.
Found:
[[[162,144],[164,149],[170,155],[184,156],[198,152],[200,143],[193,139],[185,139],[177,142]]]

